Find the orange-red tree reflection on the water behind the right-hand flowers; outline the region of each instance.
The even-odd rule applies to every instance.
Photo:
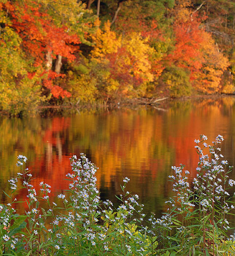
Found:
[[[176,122],[175,129],[169,127],[171,132],[168,140],[171,147],[175,149],[175,165],[179,166],[179,164],[184,163],[186,168],[191,171],[191,176],[194,177],[199,160],[194,149],[194,139],[198,139],[200,134],[207,135],[209,139],[215,138],[224,131],[226,140],[227,132],[225,131],[229,127],[230,119],[222,112],[221,100],[202,100],[198,103],[198,108],[187,112],[187,118],[177,118],[176,115],[174,121]],[[208,141],[208,144],[210,143],[211,141]]]

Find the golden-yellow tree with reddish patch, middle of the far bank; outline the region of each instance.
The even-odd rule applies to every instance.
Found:
[[[92,38],[94,48],[91,51],[91,61],[97,62],[102,69],[96,69],[97,78],[101,79],[97,79],[98,90],[102,90],[106,100],[123,95],[143,95],[146,90],[144,85],[153,80],[149,56],[155,50],[149,46],[149,39],[143,39],[140,33],[135,32],[117,36],[110,29],[109,21],[104,24],[103,30],[99,25],[97,21],[98,28]]]

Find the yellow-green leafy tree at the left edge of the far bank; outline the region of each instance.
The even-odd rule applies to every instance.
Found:
[[[1,6],[0,6],[1,7]],[[25,60],[19,35],[12,29],[7,13],[0,8],[0,108],[13,115],[34,111],[42,100],[40,78],[28,77],[30,63]]]

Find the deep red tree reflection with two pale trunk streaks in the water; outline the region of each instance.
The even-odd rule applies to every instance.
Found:
[[[44,181],[51,186],[51,196],[56,196],[62,190],[68,189],[69,182],[65,180],[66,174],[71,170],[69,158],[62,152],[64,138],[60,133],[66,131],[70,126],[70,118],[54,117],[51,125],[44,132],[43,141],[46,144],[45,156],[37,156],[35,161],[30,163],[29,170],[32,170],[32,185],[40,193],[39,182]],[[36,174],[35,174],[36,173]],[[26,189],[19,191],[20,201],[25,201],[28,192]],[[24,204],[28,208],[27,203]]]

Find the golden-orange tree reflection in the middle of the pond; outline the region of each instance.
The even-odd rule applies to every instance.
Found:
[[[114,125],[105,127],[111,140],[100,143],[93,152],[97,166],[102,166],[97,172],[98,181],[110,186],[118,171],[117,183],[122,176],[133,176],[135,180],[130,184],[135,186],[149,175],[150,180],[156,179],[158,170],[170,162],[171,152],[162,142],[162,116],[153,118],[153,113],[142,109],[110,116],[109,123]]]

